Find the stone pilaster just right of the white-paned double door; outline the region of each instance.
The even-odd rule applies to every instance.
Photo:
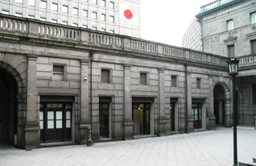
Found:
[[[89,113],[89,61],[81,61],[81,87],[80,87],[80,126],[79,144],[86,144],[88,129],[90,129]]]

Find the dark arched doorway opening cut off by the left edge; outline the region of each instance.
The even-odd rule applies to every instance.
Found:
[[[17,135],[17,82],[0,65],[0,146],[15,144]]]

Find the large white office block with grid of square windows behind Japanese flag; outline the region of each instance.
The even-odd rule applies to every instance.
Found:
[[[120,6],[138,17],[125,22]],[[2,0],[0,13],[140,37],[140,0]]]

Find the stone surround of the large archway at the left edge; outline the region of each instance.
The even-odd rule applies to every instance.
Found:
[[[0,52],[0,73],[2,82],[8,86],[8,116],[14,115],[13,131],[8,133],[8,143],[24,147],[24,126],[26,124],[27,57]],[[11,120],[11,119],[10,119]],[[15,125],[14,125],[15,124]]]

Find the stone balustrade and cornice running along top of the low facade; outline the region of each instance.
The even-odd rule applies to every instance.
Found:
[[[18,41],[19,43],[94,50],[95,52],[108,52],[227,70],[227,58],[218,55],[119,34],[4,14],[0,14],[0,36],[4,40],[14,40],[14,42]],[[47,53],[40,53],[40,55],[44,54]],[[74,58],[82,57],[74,56]]]

